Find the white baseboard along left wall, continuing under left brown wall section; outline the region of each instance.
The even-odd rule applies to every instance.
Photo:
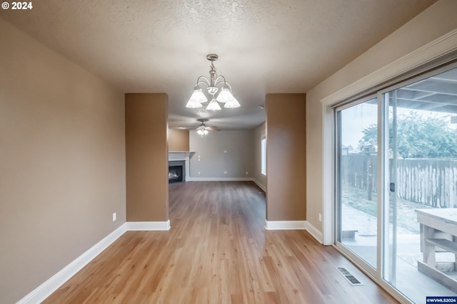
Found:
[[[54,276],[49,278],[47,281],[39,285],[37,288],[31,291],[24,298],[19,300],[16,304],[35,304],[41,303],[46,298],[54,293],[61,285],[64,285],[66,281],[80,271],[84,266],[89,264],[96,256],[104,251],[111,243],[114,243],[119,237],[126,231],[150,231],[150,230],[169,230],[170,220],[168,221],[128,221],[121,225],[118,229],[114,230],[106,236],[104,239],[92,246],[88,251],[81,254],[74,261],[69,263],[67,266],[61,269]]]

